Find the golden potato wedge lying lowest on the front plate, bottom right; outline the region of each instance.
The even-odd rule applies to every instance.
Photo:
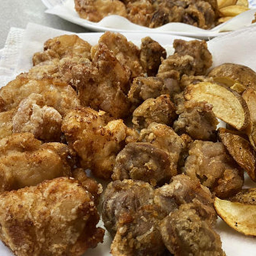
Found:
[[[230,201],[215,197],[214,208],[231,228],[245,235],[256,236],[256,188],[242,190]]]

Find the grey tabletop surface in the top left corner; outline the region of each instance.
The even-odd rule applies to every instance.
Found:
[[[46,14],[41,0],[0,0],[0,49],[4,47],[10,27],[26,28],[28,22],[72,32],[91,32],[90,30]]]

